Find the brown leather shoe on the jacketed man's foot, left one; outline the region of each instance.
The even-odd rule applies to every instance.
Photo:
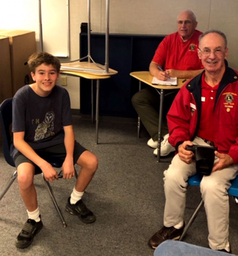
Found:
[[[183,227],[180,229],[174,227],[167,228],[163,226],[158,232],[152,235],[152,237],[149,239],[148,245],[155,249],[165,240],[179,240],[181,234],[183,233],[184,227],[185,223],[183,223]]]

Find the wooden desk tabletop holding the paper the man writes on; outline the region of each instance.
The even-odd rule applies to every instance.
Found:
[[[131,72],[130,75],[136,79],[138,79],[141,82],[144,82],[145,84],[148,84],[154,88],[157,89],[163,89],[163,90],[172,90],[172,89],[180,89],[189,79],[185,78],[178,78],[178,85],[156,85],[152,84],[152,75],[149,74],[149,71],[136,71]]]

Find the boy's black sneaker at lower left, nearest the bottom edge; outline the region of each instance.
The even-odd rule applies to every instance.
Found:
[[[42,221],[36,222],[33,219],[28,219],[20,234],[16,238],[16,247],[26,248],[33,242],[34,236],[43,228]]]

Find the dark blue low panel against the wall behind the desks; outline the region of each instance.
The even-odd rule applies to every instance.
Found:
[[[100,115],[136,117],[131,97],[138,91],[138,81],[131,79],[129,74],[132,71],[148,70],[155,49],[163,38],[164,36],[109,35],[109,67],[118,71],[118,74],[100,80]],[[87,51],[87,33],[81,33],[80,57],[86,56]],[[104,65],[105,34],[91,34],[91,56],[94,61]],[[95,90],[94,87],[94,101]],[[80,112],[91,113],[91,81],[84,78],[80,79]]]

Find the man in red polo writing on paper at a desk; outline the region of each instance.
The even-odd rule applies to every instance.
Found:
[[[193,78],[202,72],[203,66],[197,56],[198,38],[202,32],[196,30],[196,26],[196,16],[192,11],[180,13],[177,18],[177,32],[167,35],[155,51],[149,65],[151,75],[167,80],[168,77]],[[177,90],[171,97],[166,97],[165,114],[176,92]],[[132,104],[151,136],[147,144],[155,148],[154,154],[157,155],[160,96],[154,88],[148,87],[132,97]],[[168,143],[168,135],[165,135],[161,143],[161,156],[174,150]]]

